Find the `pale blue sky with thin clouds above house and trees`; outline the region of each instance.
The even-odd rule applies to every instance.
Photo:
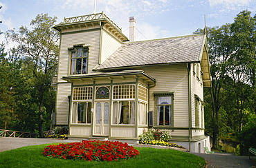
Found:
[[[28,28],[37,14],[78,17],[104,13],[129,37],[129,17],[136,18],[136,41],[190,35],[198,28],[232,23],[242,10],[256,14],[256,0],[0,0],[0,30]],[[206,19],[205,19],[206,18]],[[3,41],[0,35],[0,42]]]

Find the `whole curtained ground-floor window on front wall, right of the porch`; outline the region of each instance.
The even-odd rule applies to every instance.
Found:
[[[173,125],[173,94],[154,93],[156,101],[156,125]]]

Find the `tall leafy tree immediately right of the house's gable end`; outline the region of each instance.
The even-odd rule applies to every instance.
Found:
[[[203,31],[196,30],[195,33]],[[220,28],[207,28],[207,33],[212,87],[205,90],[205,94],[209,95],[206,98],[208,102],[205,104],[205,108],[208,107],[208,110],[205,110],[205,115],[210,117],[206,127],[210,128],[208,130],[210,130],[210,134],[213,137],[213,147],[219,149],[219,126],[221,123],[219,114],[224,103],[222,87],[227,76],[228,59],[232,53],[230,46],[230,24],[222,25]]]

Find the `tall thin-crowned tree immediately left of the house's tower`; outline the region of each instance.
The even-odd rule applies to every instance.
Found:
[[[30,22],[32,30],[21,26],[18,32],[10,30],[6,33],[9,39],[18,43],[17,50],[24,59],[29,73],[33,78],[29,83],[33,87],[30,90],[34,103],[37,105],[39,136],[44,137],[44,114],[46,114],[45,101],[49,92],[53,92],[51,78],[57,72],[58,40],[60,34],[52,27],[57,17],[49,17],[48,14],[38,14]],[[51,95],[51,94],[50,94]],[[51,110],[50,110],[51,111]]]

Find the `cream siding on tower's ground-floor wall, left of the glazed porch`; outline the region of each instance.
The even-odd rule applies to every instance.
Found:
[[[56,125],[68,125],[68,96],[71,96],[71,83],[57,84]]]

